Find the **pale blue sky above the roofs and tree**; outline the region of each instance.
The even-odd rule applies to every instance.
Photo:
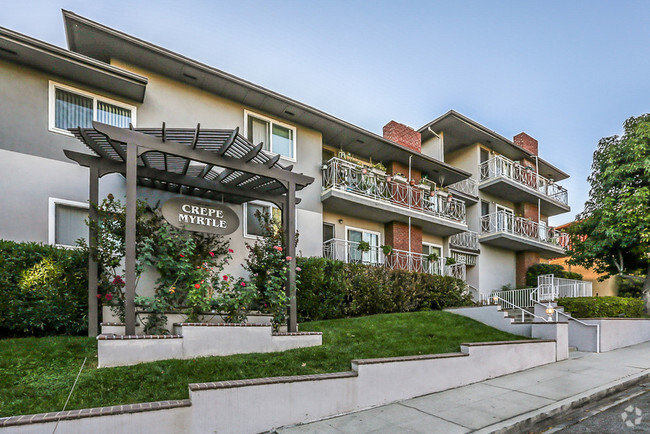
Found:
[[[0,26],[66,47],[61,9],[176,51],[381,134],[454,109],[571,177],[650,112],[648,1],[0,0]]]

